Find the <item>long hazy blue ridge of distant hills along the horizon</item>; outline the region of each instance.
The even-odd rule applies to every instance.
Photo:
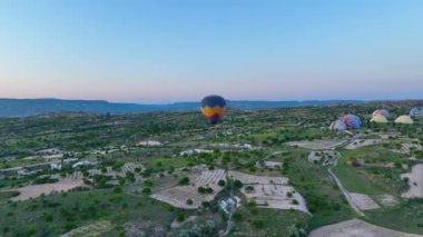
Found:
[[[331,106],[362,103],[360,100],[308,100],[308,101],[228,101],[235,109],[267,109],[285,107]],[[115,103],[106,100],[61,99],[0,99],[0,117],[26,117],[48,112],[131,113],[149,111],[197,110],[199,102],[176,102],[168,105]]]

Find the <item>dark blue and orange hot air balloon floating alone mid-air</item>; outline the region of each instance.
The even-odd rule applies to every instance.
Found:
[[[226,111],[226,101],[220,96],[207,96],[201,100],[201,112],[212,124],[216,125]]]

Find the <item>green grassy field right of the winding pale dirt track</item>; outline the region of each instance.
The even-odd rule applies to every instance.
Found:
[[[400,200],[395,207],[383,207],[381,209],[367,210],[365,221],[373,223],[386,228],[423,234],[423,203],[419,200],[406,200],[401,198],[404,184],[400,175],[405,172],[402,168],[370,168],[352,167],[347,164],[353,158],[383,162],[406,162],[405,158],[384,149],[381,146],[372,146],[357,150],[342,150],[342,158],[334,169],[336,176],[342,180],[348,191],[366,194],[373,197],[390,194]],[[377,174],[374,174],[375,170]]]

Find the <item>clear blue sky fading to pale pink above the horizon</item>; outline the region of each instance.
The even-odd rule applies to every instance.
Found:
[[[422,0],[0,0],[0,98],[423,98]]]

